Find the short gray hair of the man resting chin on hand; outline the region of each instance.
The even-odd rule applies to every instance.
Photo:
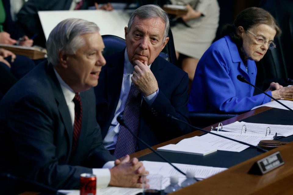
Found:
[[[130,31],[134,17],[137,16],[139,19],[149,19],[160,17],[165,22],[165,32],[164,32],[164,41],[168,37],[169,31],[169,17],[168,14],[160,8],[158,5],[143,5],[137,8],[130,16],[128,21],[128,32]]]

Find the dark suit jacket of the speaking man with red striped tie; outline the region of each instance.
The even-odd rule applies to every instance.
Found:
[[[69,189],[79,187],[81,173],[114,160],[103,147],[93,89],[80,97],[82,129],[70,159],[73,125],[52,65],[43,62],[19,80],[0,103],[1,172]]]

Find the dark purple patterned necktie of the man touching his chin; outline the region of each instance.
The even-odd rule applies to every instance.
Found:
[[[132,85],[125,103],[122,117],[130,130],[138,135],[139,129],[139,114],[140,114],[141,93]],[[126,129],[126,127],[120,125],[118,138],[114,150],[114,156],[121,158],[126,154],[132,154],[136,151],[137,140]]]

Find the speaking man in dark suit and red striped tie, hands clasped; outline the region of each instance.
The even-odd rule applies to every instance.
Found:
[[[141,187],[142,163],[126,156],[114,166],[96,122],[92,87],[106,63],[103,49],[92,22],[67,19],[52,30],[49,62],[39,64],[1,101],[0,172],[56,189],[78,188],[81,173],[95,174],[98,186]]]

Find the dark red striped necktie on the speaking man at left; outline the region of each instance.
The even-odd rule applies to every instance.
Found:
[[[75,94],[73,98],[74,102],[74,124],[73,124],[73,140],[72,140],[72,149],[71,149],[71,156],[74,153],[77,143],[78,143],[78,138],[80,135],[81,131],[81,122],[82,122],[82,105],[81,105],[81,99],[78,93]]]

